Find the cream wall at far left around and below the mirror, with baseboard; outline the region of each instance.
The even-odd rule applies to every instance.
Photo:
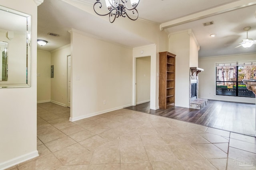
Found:
[[[0,169],[2,169],[38,156],[36,150],[37,6],[33,0],[1,0],[0,5],[32,15],[31,87],[0,89]]]

